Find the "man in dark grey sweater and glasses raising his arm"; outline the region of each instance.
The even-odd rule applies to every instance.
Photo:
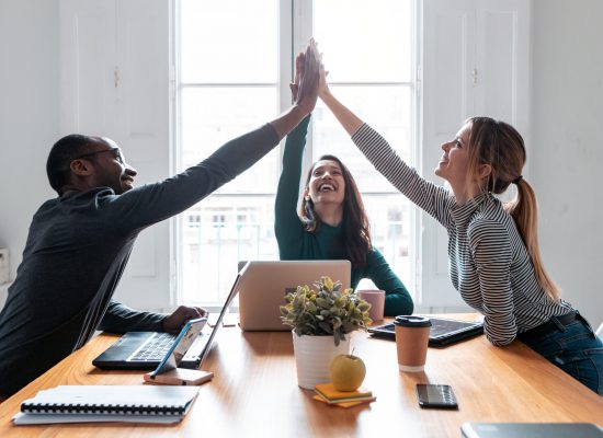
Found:
[[[70,135],[46,170],[58,197],[34,215],[23,262],[0,312],[0,401],[82,347],[95,330],[175,332],[203,309],[171,315],[112,299],[138,233],[196,204],[272,150],[314,108],[319,60],[310,42],[299,96],[282,116],[168,180],[134,187],[117,145]]]

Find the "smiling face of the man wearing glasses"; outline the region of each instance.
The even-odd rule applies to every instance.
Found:
[[[117,143],[109,138],[94,140],[95,153],[89,157],[94,169],[94,186],[113,188],[117,195],[132,189],[137,172],[126,163]]]

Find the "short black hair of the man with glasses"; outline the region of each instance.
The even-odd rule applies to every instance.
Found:
[[[46,161],[46,174],[50,187],[59,196],[62,187],[69,182],[69,163],[75,157],[82,155],[91,149],[94,138],[80,134],[70,134],[58,140],[50,149],[48,161]]]

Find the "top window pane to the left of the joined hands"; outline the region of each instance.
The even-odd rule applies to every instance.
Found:
[[[184,83],[275,83],[277,0],[182,0]]]

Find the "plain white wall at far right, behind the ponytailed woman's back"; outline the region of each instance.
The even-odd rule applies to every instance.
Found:
[[[564,298],[603,321],[603,2],[533,5],[533,184],[541,247]]]

